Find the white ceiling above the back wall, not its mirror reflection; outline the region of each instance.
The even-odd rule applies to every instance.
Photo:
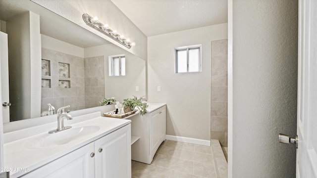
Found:
[[[228,0],[111,0],[146,36],[228,22]]]

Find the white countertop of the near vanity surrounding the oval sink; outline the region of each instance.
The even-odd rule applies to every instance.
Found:
[[[89,118],[87,120],[87,117]],[[86,118],[86,119],[85,119]],[[78,119],[78,123],[73,122],[71,129],[84,127],[84,126],[99,126],[99,130],[95,131],[93,134],[88,136],[82,136],[79,139],[74,139],[68,143],[50,146],[46,148],[38,148],[36,146],[32,147],[33,142],[39,137],[48,135],[50,131],[47,128],[52,128],[52,124],[44,125],[45,132],[42,127],[28,128],[21,131],[16,131],[14,133],[4,134],[5,144],[3,144],[4,149],[4,168],[11,169],[10,178],[19,177],[26,172],[14,172],[14,169],[26,169],[34,171],[36,168],[43,166],[75,149],[78,149],[96,139],[105,136],[125,125],[128,125],[131,120],[126,119],[116,119],[116,118],[106,118],[101,117],[100,113],[92,113],[91,115],[85,115],[85,118]],[[74,119],[73,119],[74,120]],[[84,120],[84,121],[83,121]],[[55,123],[57,126],[57,122]],[[65,126],[69,126],[66,124]],[[69,130],[71,130],[69,129]],[[66,130],[65,130],[66,131]],[[65,131],[61,131],[65,132]],[[33,132],[30,134],[30,132]],[[28,133],[28,134],[27,134]],[[27,134],[28,137],[16,138],[15,135]],[[58,134],[58,133],[55,133]]]

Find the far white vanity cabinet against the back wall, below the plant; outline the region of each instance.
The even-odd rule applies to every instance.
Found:
[[[143,116],[131,117],[131,134],[140,136],[131,146],[132,160],[151,164],[166,137],[166,105],[161,104]]]

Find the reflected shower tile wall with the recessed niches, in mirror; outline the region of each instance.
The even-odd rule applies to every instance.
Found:
[[[48,103],[51,103],[55,109],[65,105],[71,106],[69,110],[83,109],[85,106],[84,58],[46,48],[42,48],[42,58],[51,60],[52,88],[42,89],[41,112],[48,110]],[[58,62],[69,64],[71,88],[58,87]]]

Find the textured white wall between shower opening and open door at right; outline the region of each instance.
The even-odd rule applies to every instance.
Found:
[[[229,178],[295,178],[298,1],[228,4]]]

